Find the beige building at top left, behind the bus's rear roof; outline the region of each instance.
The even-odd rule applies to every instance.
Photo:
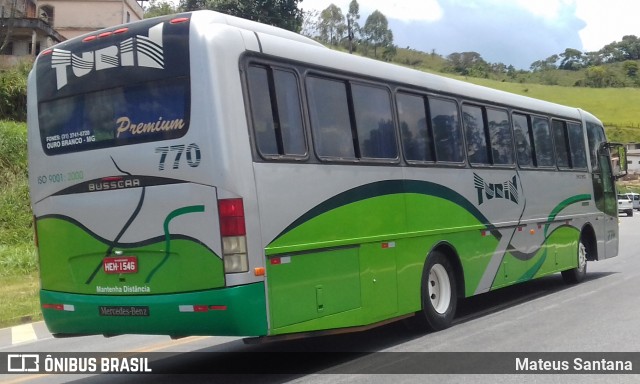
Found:
[[[40,0],[38,7],[66,39],[144,18],[135,0]]]

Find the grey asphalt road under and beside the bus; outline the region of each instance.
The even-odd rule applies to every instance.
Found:
[[[566,285],[556,274],[463,300],[454,326],[436,333],[416,334],[393,323],[360,333],[261,345],[245,345],[240,339],[224,337],[53,339],[43,335],[37,341],[0,346],[0,353],[167,352],[154,355],[153,359],[168,371],[180,372],[207,372],[215,366],[246,367],[251,371],[267,362],[274,364],[274,374],[0,375],[0,382],[636,383],[640,382],[640,375],[417,374],[428,366],[425,359],[434,356],[446,356],[444,365],[456,361],[463,365],[479,356],[505,359],[499,352],[515,352],[514,356],[536,352],[549,359],[557,357],[553,352],[640,352],[640,214],[620,217],[620,228],[619,256],[589,263],[583,283]],[[571,353],[567,356],[573,359]],[[640,372],[640,361],[634,363],[638,365],[634,370]],[[283,371],[277,372],[279,369]]]

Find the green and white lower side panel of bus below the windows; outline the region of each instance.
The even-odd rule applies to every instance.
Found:
[[[465,296],[573,268],[579,228],[596,215],[584,172],[530,172],[523,183],[519,172],[526,171],[515,169],[451,175],[389,167],[381,177],[381,167],[360,166],[355,175],[339,166],[307,167],[254,166],[261,213],[270,218],[263,237],[274,239],[265,251],[275,334],[367,325],[419,310],[412,292],[420,289],[429,251],[442,242],[461,255]],[[487,188],[515,177],[517,195],[488,195],[474,173]],[[554,190],[528,193],[545,182]],[[551,210],[550,200],[557,202]],[[581,213],[584,207],[592,213]],[[339,256],[353,264],[340,266]],[[374,293],[383,286],[384,294]],[[361,300],[348,305],[351,294]]]

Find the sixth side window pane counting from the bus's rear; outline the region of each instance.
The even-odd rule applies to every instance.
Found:
[[[458,104],[453,100],[429,97],[429,116],[435,141],[436,161],[463,162],[464,144]]]

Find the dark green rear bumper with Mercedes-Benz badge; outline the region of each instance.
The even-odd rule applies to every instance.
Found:
[[[40,302],[45,323],[54,335],[267,334],[264,283],[143,296],[81,295],[41,290]]]

